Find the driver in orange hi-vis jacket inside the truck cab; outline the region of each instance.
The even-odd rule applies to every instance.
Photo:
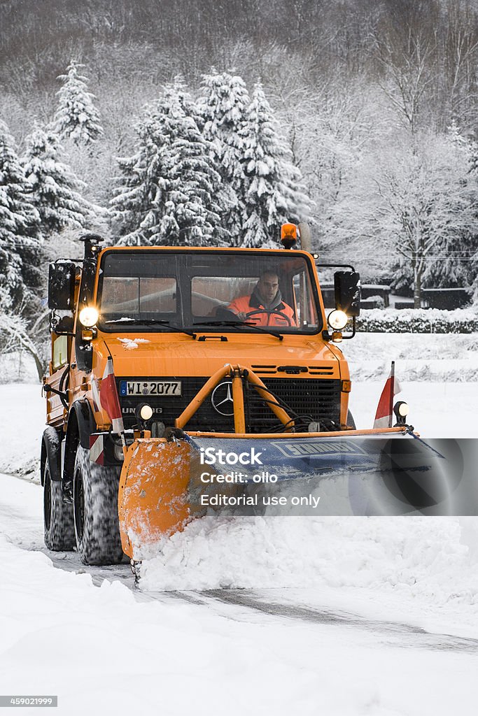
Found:
[[[282,301],[279,276],[264,271],[250,296],[240,296],[227,306],[240,321],[252,321],[258,326],[295,326],[294,311]]]

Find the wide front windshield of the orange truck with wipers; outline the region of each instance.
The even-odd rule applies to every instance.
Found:
[[[292,251],[107,251],[97,304],[105,331],[322,328],[310,263]]]

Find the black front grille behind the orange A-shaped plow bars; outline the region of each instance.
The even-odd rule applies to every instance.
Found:
[[[122,380],[137,380],[137,378],[122,377]],[[207,380],[204,378],[189,378],[169,376],[154,378],[154,380],[175,379],[182,382],[182,395],[171,396],[125,396],[120,397],[123,410],[125,428],[135,424],[134,409],[140,402],[148,402],[153,410],[161,408],[162,412],[155,412],[153,420],[161,420],[166,427],[174,425],[176,417],[181,415],[186,405],[203,387]],[[119,393],[119,382],[118,393]],[[320,422],[323,430],[332,430],[340,423],[340,380],[320,378],[268,378],[264,384],[277,396],[279,402],[284,402],[292,413],[304,416],[303,422],[307,425],[310,420]],[[270,410],[267,403],[261,400],[254,387],[244,382],[244,404],[246,408],[246,427],[248,432],[274,432],[280,426],[279,420]],[[291,417],[295,417],[291,415]],[[191,418],[186,426],[188,430],[204,430],[211,432],[234,432],[234,419],[232,416],[219,415],[211,404],[211,396],[206,398],[203,405]]]

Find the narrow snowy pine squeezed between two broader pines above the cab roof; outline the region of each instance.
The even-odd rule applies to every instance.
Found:
[[[197,106],[200,127],[211,142],[212,158],[224,184],[224,227],[234,246],[242,245],[247,179],[244,175],[249,92],[242,77],[211,69],[203,75]]]

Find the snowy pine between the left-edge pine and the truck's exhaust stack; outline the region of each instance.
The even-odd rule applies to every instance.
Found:
[[[40,216],[42,233],[48,238],[62,229],[83,228],[90,218],[90,206],[80,195],[85,184],[70,167],[58,160],[58,137],[35,124],[27,137],[21,163],[30,187],[30,199]]]

